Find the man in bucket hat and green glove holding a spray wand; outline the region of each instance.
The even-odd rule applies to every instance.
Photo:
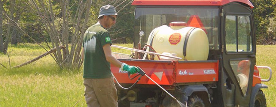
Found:
[[[117,89],[111,74],[110,63],[130,74],[139,72],[137,67],[122,63],[111,55],[112,42],[106,29],[116,23],[117,16],[113,6],[102,6],[98,23],[88,28],[84,34],[83,84],[88,107],[118,107]]]

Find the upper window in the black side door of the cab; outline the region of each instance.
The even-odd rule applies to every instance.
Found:
[[[226,16],[225,42],[227,52],[252,52],[251,24],[249,16]]]

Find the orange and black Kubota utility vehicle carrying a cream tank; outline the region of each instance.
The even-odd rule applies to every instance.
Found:
[[[266,107],[262,89],[268,87],[261,82],[269,81],[272,71],[256,66],[249,0],[134,0],[132,5],[134,48],[144,52],[113,53],[120,61],[139,66],[188,107]],[[269,79],[261,79],[260,68],[270,70]],[[113,65],[111,71],[123,87],[137,80]],[[180,106],[145,76],[131,89],[117,89],[120,107]]]

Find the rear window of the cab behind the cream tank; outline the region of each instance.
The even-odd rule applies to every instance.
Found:
[[[218,22],[219,9],[217,7],[195,6],[138,6],[135,10],[134,45],[139,43],[139,32],[145,35],[141,45],[147,43],[151,31],[159,26],[167,25],[173,21],[196,22],[194,27],[202,28],[209,39],[210,49],[218,49]],[[194,21],[197,20],[197,21]],[[192,26],[192,24],[190,24]]]

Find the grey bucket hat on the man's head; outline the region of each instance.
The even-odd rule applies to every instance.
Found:
[[[108,16],[108,15],[115,15],[115,16],[118,15],[114,6],[105,5],[100,8],[100,15],[98,18],[100,18],[101,16]]]

